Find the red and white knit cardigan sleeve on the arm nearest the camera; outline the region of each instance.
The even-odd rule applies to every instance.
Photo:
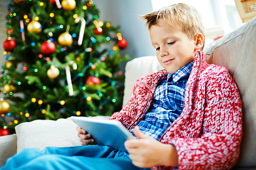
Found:
[[[224,68],[210,75],[205,90],[201,134],[168,141],[176,147],[179,169],[230,169],[239,158],[242,104],[236,83]]]

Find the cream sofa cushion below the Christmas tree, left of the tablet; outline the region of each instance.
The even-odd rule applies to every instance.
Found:
[[[17,153],[24,148],[73,147],[80,145],[76,124],[70,119],[34,120],[15,127]]]

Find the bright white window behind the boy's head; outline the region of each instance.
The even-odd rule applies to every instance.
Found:
[[[205,44],[214,41],[242,26],[242,20],[233,0],[151,0],[153,10],[186,3],[195,7],[202,15],[205,28]]]

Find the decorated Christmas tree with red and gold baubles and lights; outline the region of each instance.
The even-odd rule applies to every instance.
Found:
[[[120,110],[127,42],[99,20],[93,1],[13,0],[7,8],[0,128]]]

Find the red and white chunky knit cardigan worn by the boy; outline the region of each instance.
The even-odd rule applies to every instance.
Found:
[[[230,169],[238,161],[242,137],[239,91],[227,68],[209,65],[204,52],[197,51],[194,61],[185,89],[184,109],[160,141],[175,145],[179,169]],[[129,102],[110,119],[119,120],[128,129],[137,125],[167,73],[161,70],[138,79]]]

